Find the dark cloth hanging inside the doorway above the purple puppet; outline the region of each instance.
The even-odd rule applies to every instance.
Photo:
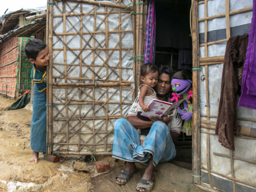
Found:
[[[192,50],[178,50],[178,69],[189,71],[192,70]]]

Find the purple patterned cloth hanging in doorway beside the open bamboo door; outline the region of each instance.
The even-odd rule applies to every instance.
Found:
[[[146,44],[144,63],[155,63],[155,34],[156,34],[156,14],[155,0],[148,3],[148,16],[146,18]]]

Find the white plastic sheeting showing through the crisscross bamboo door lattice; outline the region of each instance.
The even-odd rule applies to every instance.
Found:
[[[67,1],[68,2],[68,1]],[[101,1],[103,2],[103,1]],[[109,1],[108,1],[109,3]],[[74,7],[77,3],[71,3],[68,2],[69,6],[72,8]],[[60,9],[63,9],[63,4],[62,2],[59,2]],[[82,12],[83,13],[88,13],[90,10],[92,10],[95,7],[95,5],[89,5],[84,3],[82,5]],[[97,12],[103,12],[105,7],[97,7]],[[108,7],[108,11],[111,9],[111,7]],[[69,12],[70,8],[68,6],[66,6],[66,12]],[[118,11],[118,9],[114,8],[113,12]],[[92,10],[91,12],[94,12],[94,10]],[[76,9],[74,10],[74,13],[80,13],[80,6],[76,7]],[[54,6],[54,15],[55,14],[61,14],[61,12],[59,11],[59,9],[57,9],[57,7]],[[128,16],[128,13],[122,13],[121,14],[121,20],[123,21],[125,19],[125,17]],[[96,16],[96,27],[99,26],[99,23],[103,20],[103,18],[105,17],[104,14],[97,14]],[[80,22],[78,22],[78,20],[80,19],[80,16],[76,17],[76,16],[68,16],[67,17],[70,22],[72,23],[72,25],[74,25],[76,27],[76,29],[80,29]],[[54,26],[57,25],[57,23],[59,23],[59,21],[62,20],[61,17],[54,17],[53,19],[53,28]],[[87,22],[86,22],[87,20]],[[87,15],[82,19],[82,22],[85,23],[86,25],[83,28],[83,32],[84,31],[93,31],[93,26],[94,26],[94,16],[93,15]],[[76,24],[76,25],[75,25]],[[108,27],[109,27],[109,31],[113,31],[114,28],[118,25],[118,14],[110,14],[108,16]],[[102,25],[99,27],[99,29],[97,31],[106,31],[106,25],[105,22],[102,23]],[[71,25],[69,22],[66,22],[66,29],[67,31],[69,31],[69,33],[71,32],[76,32],[75,29],[71,29]],[[71,29],[71,30],[69,30]],[[118,30],[118,29],[117,29]],[[133,30],[132,27],[132,19],[131,16],[129,16],[129,18],[127,18],[121,25],[121,30],[122,31],[130,31]],[[61,22],[61,24],[54,29],[54,33],[63,33],[63,22]],[[74,89],[67,89],[67,92],[65,92],[65,89],[53,89],[53,103],[54,103],[54,108],[53,108],[53,117],[55,118],[63,118],[64,116],[72,116],[71,112],[74,112],[74,118],[76,118],[75,116],[86,116],[89,117],[93,116],[93,103],[89,102],[86,105],[81,105],[80,110],[77,110],[78,105],[76,104],[69,104],[68,108],[70,110],[66,110],[64,109],[61,113],[59,112],[62,108],[63,108],[63,104],[59,105],[58,103],[63,103],[65,102],[65,98],[68,99],[73,99],[71,102],[74,103],[76,102],[76,100],[74,99],[87,99],[92,101],[93,98],[95,98],[95,100],[98,101],[109,101],[109,102],[118,102],[120,103],[121,100],[124,103],[132,103],[133,101],[133,87],[134,87],[134,71],[133,71],[133,61],[129,61],[129,59],[131,59],[131,57],[133,57],[133,50],[129,50],[129,48],[133,48],[133,33],[122,33],[121,34],[122,37],[123,35],[125,35],[123,37],[123,39],[121,40],[121,44],[122,44],[122,48],[127,48],[127,50],[122,50],[122,62],[121,65],[122,67],[124,67],[125,69],[121,70],[121,74],[119,71],[119,68],[115,68],[116,66],[118,66],[119,64],[119,50],[109,50],[109,55],[110,59],[108,60],[108,65],[110,65],[110,67],[113,67],[112,69],[114,69],[114,72],[110,69],[110,67],[108,67],[108,69],[106,68],[106,65],[103,65],[104,61],[106,61],[107,55],[106,55],[106,51],[105,50],[96,50],[95,51],[95,66],[94,67],[89,67],[85,66],[84,63],[86,63],[86,65],[91,65],[93,63],[93,51],[92,50],[86,50],[84,49],[82,51],[82,58],[85,58],[87,55],[89,55],[88,57],[86,57],[86,59],[84,59],[84,63],[82,63],[82,67],[76,67],[75,69],[71,69],[73,67],[69,67],[67,66],[67,72],[69,72],[69,74],[67,75],[67,78],[78,78],[80,77],[80,70],[82,70],[82,74],[84,74],[84,76],[82,76],[82,78],[84,78],[82,80],[82,83],[89,83],[92,82],[92,79],[94,78],[93,76],[93,72],[91,71],[91,69],[93,69],[93,71],[95,71],[97,73],[97,76],[95,75],[95,82],[97,83],[102,83],[102,80],[97,80],[97,79],[106,79],[108,76],[108,80],[110,80],[109,82],[119,82],[119,76],[122,76],[123,81],[126,82],[131,82],[131,88],[127,87],[127,88],[123,88],[121,89],[121,91],[119,89],[116,88],[95,88],[95,94],[93,95],[93,89],[92,88],[87,88],[84,89],[84,91],[86,92],[86,94],[82,91],[81,92],[81,97],[79,95],[79,91],[78,88],[74,88]],[[69,44],[67,46],[69,46],[69,48],[80,48],[80,36],[76,35],[73,39],[71,39],[74,35],[67,35],[67,42],[69,42]],[[93,38],[91,38],[91,34],[84,34],[82,35],[84,37],[84,39],[86,39],[86,41],[89,41],[89,45],[91,47],[93,47]],[[60,37],[62,37],[60,35]],[[90,39],[91,38],[91,39]],[[105,46],[105,39],[106,38],[106,34],[105,33],[97,33],[95,34],[95,46],[97,47],[99,45],[99,43],[101,44],[101,46],[99,46],[98,48],[106,48]],[[110,38],[109,38],[109,48],[114,48],[119,42],[119,33],[111,33]],[[82,47],[85,46],[85,42],[84,40],[82,41]],[[63,42],[59,41],[59,38],[57,36],[53,37],[53,49],[61,49],[63,48]],[[90,48],[90,46],[86,46],[86,48]],[[117,46],[118,48],[119,46]],[[74,50],[74,52],[76,54],[78,54],[80,52],[80,50]],[[96,54],[99,54],[99,56],[102,58],[100,59],[99,57],[96,57]],[[64,63],[64,52],[63,50],[61,50],[61,52],[59,50],[53,50],[53,63]],[[74,59],[76,58],[76,55],[73,54],[69,49],[67,49],[67,63],[71,63],[72,61],[74,61]],[[76,59],[76,61],[74,62],[74,64],[79,64],[80,60]],[[103,65],[103,67],[101,67],[101,65]],[[64,69],[64,65],[55,65],[53,64],[54,68],[53,68],[53,82],[59,82],[59,83],[64,83],[65,80],[62,78],[57,78],[58,76],[61,76],[62,72],[63,74],[65,73],[65,69]],[[108,74],[108,75],[107,75]],[[110,75],[111,74],[111,75]],[[118,75],[117,75],[118,74]],[[56,77],[56,78],[55,78]],[[73,82],[80,82],[79,80],[73,79]],[[68,83],[70,83],[69,80],[67,80]],[[107,90],[108,90],[108,95],[107,95]],[[68,93],[68,94],[67,94]],[[107,99],[108,97],[108,99]],[[113,140],[113,133],[108,134],[108,136],[106,136],[106,133],[102,133],[102,131],[112,131],[114,129],[113,125],[114,125],[114,119],[109,119],[107,126],[106,126],[106,112],[104,108],[101,107],[103,103],[95,103],[95,116],[105,116],[105,119],[101,118],[101,119],[96,119],[95,121],[93,121],[92,119],[87,119],[87,120],[82,120],[84,123],[86,123],[86,125],[82,126],[82,128],[80,129],[79,133],[93,133],[93,130],[95,131],[99,131],[101,133],[97,133],[97,135],[95,135],[93,138],[95,139],[95,142],[98,144],[102,144],[101,146],[95,146],[95,150],[97,152],[100,151],[104,151],[105,149],[105,144],[103,142],[103,140],[105,140],[108,144],[112,144],[112,140]],[[123,115],[126,116],[127,112],[129,110],[129,105],[121,105],[122,107],[120,108],[120,106],[118,104],[112,103],[112,104],[108,104],[108,115],[112,115],[112,116],[119,116]],[[105,105],[106,107],[106,105]],[[122,109],[122,112],[120,111]],[[65,137],[65,133],[66,133],[66,126],[64,129],[61,129],[61,127],[63,127],[63,124],[65,123],[65,121],[54,121],[53,123],[53,132],[62,132],[63,134],[55,134],[53,135],[54,138],[54,143],[59,143],[59,142],[67,142],[66,137]],[[76,126],[79,125],[79,126]],[[69,121],[69,131],[73,131],[74,129],[78,130],[78,127],[80,127],[81,123],[80,121],[78,121],[78,119],[76,120],[70,120]],[[94,127],[93,127],[94,125]],[[71,127],[74,127],[74,129],[72,129]],[[71,134],[71,133],[70,133]],[[81,134],[80,135],[80,141],[82,143],[88,142],[89,144],[93,143],[93,138],[92,138],[92,134]],[[103,140],[101,140],[101,138],[103,138]],[[73,137],[69,138],[69,143],[78,143],[78,135],[74,135]],[[59,145],[55,144],[53,147],[53,150],[56,151],[59,149]],[[91,148],[91,147],[89,147]],[[90,151],[88,147],[84,147],[82,148],[80,151]],[[108,151],[111,152],[111,148],[109,145],[106,145],[106,148],[108,148]],[[67,146],[61,146],[60,150],[67,150]],[[73,145],[69,145],[69,150],[70,151],[78,151],[78,145],[73,144]],[[93,149],[91,149],[93,150]],[[95,150],[93,152],[95,152]]]

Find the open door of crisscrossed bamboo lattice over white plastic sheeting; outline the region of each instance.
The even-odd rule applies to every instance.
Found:
[[[48,154],[112,155],[135,87],[133,6],[48,1]]]

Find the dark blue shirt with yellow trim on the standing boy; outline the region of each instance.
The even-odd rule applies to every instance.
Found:
[[[31,71],[31,79],[37,86],[39,92],[42,92],[46,89],[46,69],[44,71],[39,71],[35,65]]]

